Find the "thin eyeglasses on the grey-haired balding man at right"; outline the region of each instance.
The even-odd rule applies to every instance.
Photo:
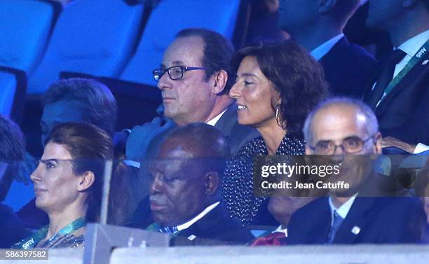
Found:
[[[376,134],[365,140],[357,136],[346,137],[339,145],[336,145],[334,141],[323,140],[318,141],[315,146],[309,146],[309,148],[314,151],[315,154],[319,155],[332,155],[335,153],[337,147],[341,147],[345,153],[353,154],[362,151],[365,143],[367,143],[369,139],[373,139],[375,136]]]

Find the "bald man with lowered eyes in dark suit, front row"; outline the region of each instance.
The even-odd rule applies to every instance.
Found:
[[[149,164],[149,230],[168,233],[172,245],[245,244],[249,231],[219,204],[219,183],[229,146],[222,132],[204,123],[177,127]]]

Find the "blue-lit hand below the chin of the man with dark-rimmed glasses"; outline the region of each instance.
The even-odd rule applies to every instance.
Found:
[[[129,160],[141,162],[146,155],[147,148],[156,135],[161,134],[175,123],[167,118],[156,117],[151,123],[137,125],[132,128],[125,147],[125,157]]]

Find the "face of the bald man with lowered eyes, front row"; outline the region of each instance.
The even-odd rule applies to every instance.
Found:
[[[160,225],[180,225],[191,220],[210,205],[208,196],[217,188],[217,184],[212,185],[212,174],[200,169],[201,161],[189,160],[194,158],[193,151],[184,145],[167,139],[157,160],[149,165],[151,211]]]

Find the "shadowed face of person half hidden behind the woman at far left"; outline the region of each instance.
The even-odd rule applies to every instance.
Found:
[[[55,126],[67,122],[88,123],[85,113],[86,109],[76,101],[62,100],[46,104],[40,120],[42,146],[45,146],[48,134]]]

